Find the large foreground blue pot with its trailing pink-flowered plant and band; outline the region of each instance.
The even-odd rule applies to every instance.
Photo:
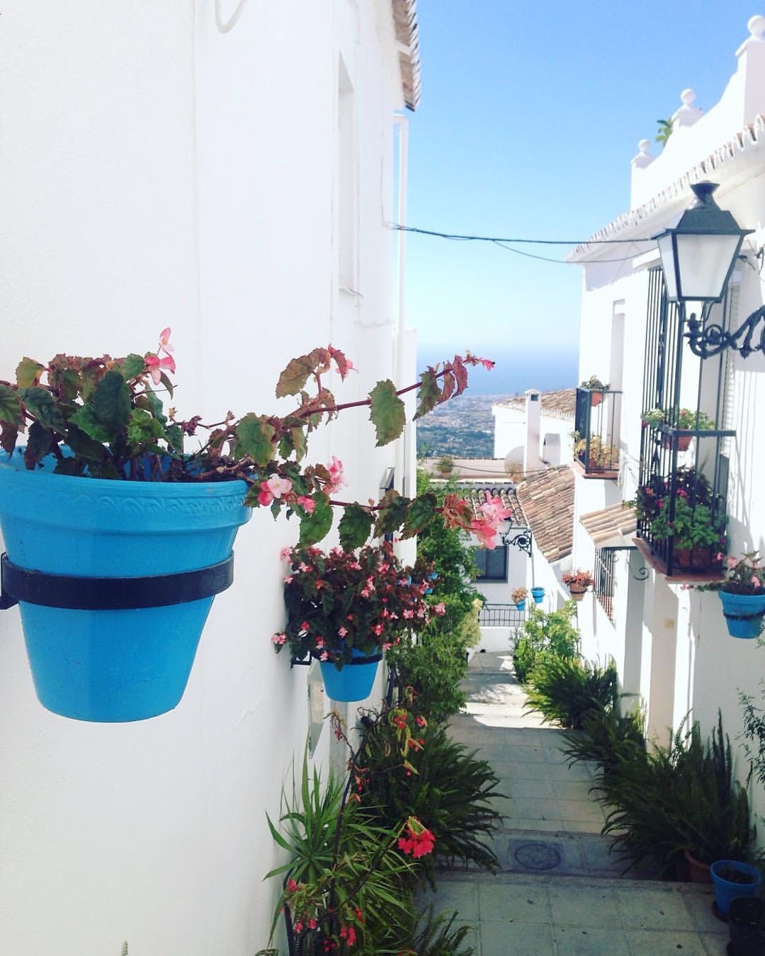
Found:
[[[468,355],[428,368],[409,386],[420,389],[418,415],[463,391],[478,363],[492,364]],[[305,546],[329,532],[333,506],[344,511],[346,548],[373,528],[410,536],[426,526],[433,495],[338,502],[342,463],[304,464],[310,434],[347,407],[369,407],[379,445],[401,434],[399,391],[408,388],[383,381],[361,402],[335,400],[330,376],[343,380],[352,367],[332,346],[314,349],[279,377],[276,397],[297,396],[286,415],[228,413],[214,424],[164,407],[175,370],[169,329],[143,355],[25,358],[14,382],[0,382],[4,603],[18,600],[43,706],[107,722],[176,706],[251,508],[295,515]],[[457,495],[441,511],[453,527],[495,524]]]

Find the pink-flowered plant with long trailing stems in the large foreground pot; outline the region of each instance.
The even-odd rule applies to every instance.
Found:
[[[333,373],[344,380],[353,365],[333,346],[313,349],[292,359],[276,384],[276,398],[295,397],[295,407],[283,415],[228,412],[215,423],[201,416],[183,419],[170,401],[175,372],[170,330],[164,329],[158,348],[122,359],[108,355],[80,358],[56,355],[47,363],[24,358],[16,380],[0,381],[0,445],[10,455],[24,436],[26,467],[33,469],[54,455],[55,471],[84,478],[127,481],[192,482],[243,479],[249,486],[245,504],[282,510],[300,520],[300,543],[310,545],[329,532],[332,505],[344,509],[339,522],[343,547],[357,548],[371,533],[399,531],[411,537],[436,511],[433,494],[409,499],[388,491],[377,505],[334,499],[345,484],[342,463],[304,465],[309,436],[320,424],[349,407],[369,409],[377,444],[386,445],[404,428],[401,396],[418,390],[415,418],[461,394],[468,385],[470,365],[491,368],[490,359],[470,353],[428,366],[420,380],[397,389],[379,381],[358,402],[337,402],[328,387]],[[309,391],[309,382],[313,386]],[[193,448],[188,448],[189,440]],[[457,495],[444,503],[445,520],[483,537],[492,547],[495,514],[476,518]]]

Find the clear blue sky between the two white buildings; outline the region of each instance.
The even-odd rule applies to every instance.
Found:
[[[765,4],[418,0],[418,11],[409,225],[578,239],[628,208],[637,143],[653,140],[681,90],[695,90],[704,110],[717,101],[747,20]],[[576,348],[577,266],[410,235],[406,281],[408,323],[434,358]]]

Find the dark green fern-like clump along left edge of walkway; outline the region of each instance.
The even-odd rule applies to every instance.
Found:
[[[494,801],[499,779],[475,751],[448,739],[443,728],[423,730],[423,749],[417,752],[417,772],[401,771],[401,756],[391,747],[383,724],[370,728],[364,738],[362,760],[374,772],[361,806],[376,825],[389,828],[406,816],[417,816],[436,837],[440,860],[474,863],[494,870],[499,860],[482,842],[499,826],[501,816]],[[433,856],[420,860],[426,873],[435,866]]]

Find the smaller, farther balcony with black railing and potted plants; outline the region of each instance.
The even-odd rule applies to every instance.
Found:
[[[574,458],[586,477],[619,477],[622,392],[578,388]]]

